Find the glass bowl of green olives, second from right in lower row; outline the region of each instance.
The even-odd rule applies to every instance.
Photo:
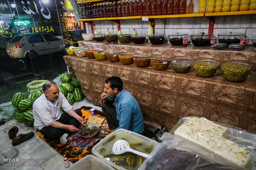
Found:
[[[198,60],[194,62],[193,68],[197,76],[211,77],[216,73],[219,65],[219,62],[213,60]]]

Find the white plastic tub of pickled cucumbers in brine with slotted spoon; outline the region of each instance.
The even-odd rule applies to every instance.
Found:
[[[135,147],[138,151],[144,152],[146,154],[149,154],[150,152],[146,152],[145,149],[142,149],[143,147],[147,148],[147,151],[149,151],[149,150],[151,151],[158,144],[158,142],[156,142],[155,140],[152,140],[150,138],[142,136],[138,133],[134,133],[134,132],[128,131],[126,129],[117,129],[116,131],[110,133],[104,139],[100,140],[100,142],[97,143],[97,145],[95,145],[92,148],[92,154],[94,154],[100,160],[104,161],[108,165],[111,165],[112,167],[114,167],[117,170],[126,170],[126,169],[137,170],[139,168],[137,164],[135,164],[135,167],[133,168],[133,167],[131,167],[131,165],[117,165],[117,164],[112,163],[112,160],[116,161],[116,159],[118,157],[116,155],[114,155],[110,158],[106,157],[106,155],[112,153],[112,146],[113,146],[114,142],[116,142],[116,140],[119,140],[121,138],[125,139],[130,144],[130,146]],[[140,145],[140,146],[131,145],[132,143],[134,143],[134,144],[142,143],[142,145]],[[104,148],[104,152],[101,151],[102,148]],[[106,158],[104,158],[104,156]],[[127,161],[128,155],[124,155],[124,156],[120,156],[118,159],[123,160],[123,158],[126,158],[126,161]],[[145,158],[143,158],[143,157],[141,157],[139,159],[142,159],[141,160],[142,162],[145,160]]]

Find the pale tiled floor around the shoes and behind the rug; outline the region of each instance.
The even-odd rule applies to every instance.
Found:
[[[100,106],[95,106],[90,103],[86,98],[83,101],[75,102],[73,105],[74,109],[81,108],[82,106],[90,106],[97,110],[102,110]],[[28,132],[33,131],[35,136],[30,140],[21,143],[17,146],[12,146],[12,140],[9,139],[8,131],[13,126],[17,126],[19,128],[19,134],[26,134]],[[34,162],[4,162],[4,158],[6,154],[14,153],[13,151],[17,149],[18,155],[16,158],[21,159],[39,159],[44,162],[42,165],[47,166],[39,166]],[[12,150],[11,150],[12,149]],[[12,119],[8,122],[5,122],[4,125],[0,126],[0,170],[63,170],[64,168],[64,157],[61,156],[58,152],[56,152],[50,145],[48,145],[45,141],[43,141],[36,133],[36,128],[28,127],[24,123],[17,122],[15,119]],[[24,165],[26,163],[26,165]],[[71,163],[72,164],[72,163]],[[35,167],[33,167],[35,166]]]

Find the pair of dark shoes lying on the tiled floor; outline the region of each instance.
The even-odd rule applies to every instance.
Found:
[[[19,131],[19,129],[17,126],[12,127],[8,131],[9,138],[12,139],[12,146],[17,146],[17,145],[21,144],[22,142],[25,142],[25,141],[31,139],[34,136],[33,132],[29,132],[26,134],[19,134],[18,136],[16,136],[18,131]]]

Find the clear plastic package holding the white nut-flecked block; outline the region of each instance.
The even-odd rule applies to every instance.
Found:
[[[204,148],[206,152],[201,153],[205,156],[213,155],[213,160],[218,163],[228,165],[227,162],[232,162],[247,169],[256,169],[256,150],[252,149],[256,148],[256,135],[253,133],[196,117],[183,117],[170,133],[187,138],[191,145]],[[190,146],[181,147],[190,149]],[[192,151],[197,152],[194,148]]]

